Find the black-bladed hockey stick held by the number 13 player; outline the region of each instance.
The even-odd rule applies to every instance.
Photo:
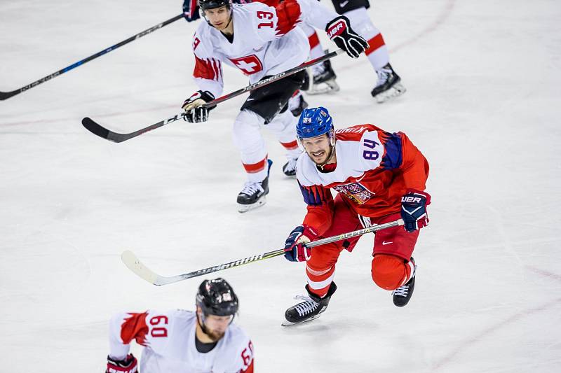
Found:
[[[332,57],[335,57],[336,55],[340,55],[342,52],[343,52],[342,49],[334,50],[333,52],[327,53],[327,55],[323,55],[322,57],[318,57],[316,59],[311,59],[308,62],[304,62],[304,64],[301,64],[300,66],[294,67],[294,68],[292,68],[290,70],[287,70],[287,71],[283,71],[282,73],[278,73],[276,75],[273,75],[270,78],[266,78],[264,80],[259,80],[257,83],[250,84],[247,87],[241,88],[241,89],[239,89],[237,91],[234,91],[234,92],[231,92],[229,94],[224,94],[224,96],[218,97],[217,99],[212,100],[208,104],[204,104],[203,106],[205,106],[205,107],[216,106],[217,104],[219,104],[221,102],[227,101],[229,99],[233,99],[234,97],[237,97],[240,94],[243,94],[245,92],[250,92],[252,90],[256,90],[257,88],[264,87],[265,85],[269,85],[273,82],[276,82],[277,80],[280,80],[282,78],[286,78],[287,76],[294,75],[295,73],[306,69],[306,67],[312,66],[314,64],[318,64],[320,62],[325,61],[326,59],[330,59]],[[113,141],[114,143],[121,143],[123,141],[133,139],[133,137],[140,136],[141,134],[144,134],[144,132],[149,132],[152,129],[156,129],[156,128],[165,126],[168,123],[175,122],[178,119],[182,119],[184,116],[185,116],[185,113],[180,113],[180,114],[177,114],[177,115],[173,115],[173,117],[161,120],[160,122],[154,123],[154,125],[149,125],[148,127],[144,127],[142,129],[139,129],[138,131],[130,132],[130,134],[119,134],[117,132],[113,132],[113,131],[105,128],[105,127],[102,127],[97,122],[95,122],[93,119],[88,118],[88,117],[82,119],[82,125],[83,125],[83,127],[86,127],[86,129],[88,129],[88,131],[90,131],[91,133],[93,133],[97,136],[102,137],[103,139]]]

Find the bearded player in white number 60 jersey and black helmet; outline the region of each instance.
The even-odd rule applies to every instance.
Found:
[[[252,373],[253,345],[232,323],[238,297],[224,279],[198,288],[196,311],[123,313],[109,324],[106,373]],[[130,342],[144,346],[140,358]]]

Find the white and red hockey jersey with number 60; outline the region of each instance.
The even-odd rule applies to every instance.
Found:
[[[195,346],[193,311],[116,314],[109,323],[109,355],[124,358],[135,339],[144,346],[140,373],[252,373],[253,345],[237,325],[229,325],[212,351]]]

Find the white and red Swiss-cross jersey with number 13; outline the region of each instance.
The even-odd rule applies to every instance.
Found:
[[[295,26],[306,21],[325,29],[335,17],[337,13],[316,0],[285,0],[276,7],[260,2],[234,4],[231,43],[208,22],[198,26],[193,37],[196,84],[219,97],[223,87],[222,63],[240,69],[249,76],[251,84],[264,76],[292,69],[306,61],[310,50],[304,31]]]

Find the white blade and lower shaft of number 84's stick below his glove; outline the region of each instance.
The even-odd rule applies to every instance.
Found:
[[[169,283],[175,283],[187,279],[191,279],[193,277],[203,276],[204,274],[210,274],[212,272],[222,271],[222,269],[234,268],[239,267],[241,265],[246,265],[248,263],[257,262],[259,260],[265,260],[269,258],[274,258],[279,255],[283,255],[285,253],[284,249],[270,251],[269,253],[253,255],[248,258],[243,258],[240,260],[234,260],[234,262],[224,263],[223,265],[215,265],[213,267],[208,267],[205,269],[198,269],[194,272],[189,272],[186,274],[178,274],[177,276],[161,276],[156,274],[156,272],[152,271],[148,267],[142,264],[137,256],[132,251],[123,251],[121,254],[121,260],[123,263],[133,271],[137,276],[145,281],[148,281],[151,284],[156,286],[168,285]]]

